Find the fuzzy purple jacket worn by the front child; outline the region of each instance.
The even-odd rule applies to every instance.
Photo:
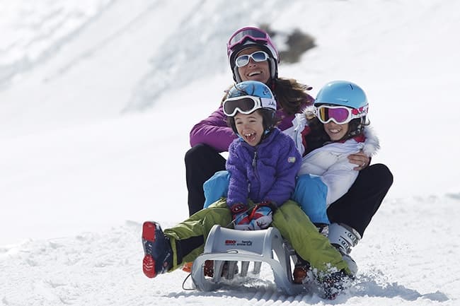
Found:
[[[235,139],[229,148],[226,169],[230,172],[227,205],[271,201],[277,206],[294,192],[301,155],[294,141],[273,129],[257,146]]]

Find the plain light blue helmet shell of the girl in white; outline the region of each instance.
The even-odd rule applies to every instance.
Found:
[[[322,104],[341,105],[354,109],[368,105],[364,90],[349,81],[332,81],[323,86],[314,102],[315,106]]]

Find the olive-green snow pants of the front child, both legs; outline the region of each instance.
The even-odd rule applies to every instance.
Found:
[[[226,200],[220,199],[173,228],[164,230],[165,235],[171,240],[174,254],[171,271],[183,266],[185,262],[194,261],[202,254],[207,235],[213,225],[228,227],[231,220],[231,211],[226,205]],[[342,255],[330,245],[327,237],[318,233],[316,226],[311,223],[309,217],[296,202],[289,200],[278,207],[273,214],[272,226],[280,230],[281,235],[296,250],[297,254],[302,259],[309,261],[313,268],[326,273],[331,268],[345,269],[347,273],[350,273]],[[193,237],[202,239],[189,239]],[[185,241],[194,241],[195,245],[188,245],[186,249],[190,252],[182,254],[182,259],[180,259],[177,256],[177,245]]]

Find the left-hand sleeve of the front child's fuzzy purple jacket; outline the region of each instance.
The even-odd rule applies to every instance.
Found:
[[[245,158],[241,151],[238,141],[231,143],[229,158],[226,161],[226,169],[230,173],[229,192],[226,200],[229,207],[237,203],[247,204],[248,201],[248,175],[243,161]]]

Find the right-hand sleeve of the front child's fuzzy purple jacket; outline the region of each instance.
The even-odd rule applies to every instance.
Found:
[[[301,165],[301,155],[294,144],[294,141],[287,135],[284,141],[280,141],[279,157],[277,160],[277,180],[265,199],[281,206],[294,193],[296,186],[297,172]]]

